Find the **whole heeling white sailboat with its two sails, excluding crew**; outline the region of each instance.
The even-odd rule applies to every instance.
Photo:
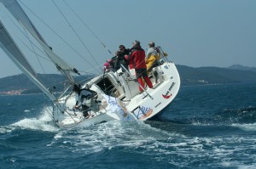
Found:
[[[0,20],[0,47],[29,80],[49,98],[52,103],[50,115],[58,127],[90,127],[114,120],[147,121],[160,115],[177,96],[180,77],[175,64],[167,59],[163,50],[160,50],[160,64],[154,67],[152,75],[149,76],[153,88],[146,87],[143,92],[138,89],[137,78],[132,76],[129,70],[122,69],[123,67],[116,71],[102,71],[102,74],[93,76],[90,80],[77,82],[74,76],[78,76],[79,71],[55,54],[20,4],[16,0],[0,0],[0,5],[6,8],[14,20],[38,42],[44,54],[55,65],[56,71],[61,72],[66,79],[66,85],[61,93],[56,94],[46,87],[38,78],[38,73],[32,64],[26,59],[26,54],[23,54],[20,46],[15,42],[15,35],[12,35],[3,20]],[[96,97],[89,99],[87,103],[90,108],[88,116],[84,116],[84,110],[73,109],[77,101],[76,93],[73,92],[74,84],[80,84],[79,87],[96,92]]]

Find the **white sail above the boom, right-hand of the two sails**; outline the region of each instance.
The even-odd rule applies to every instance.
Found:
[[[0,0],[1,3],[9,10],[21,25],[23,25],[27,31],[30,32],[32,37],[34,37],[38,43],[44,48],[46,54],[48,54],[49,59],[53,61],[58,70],[67,76],[70,82],[73,82],[72,76],[69,75],[68,71],[76,72],[76,70],[68,65],[63,59],[56,55],[50,48],[49,45],[44,41],[44,38],[40,35],[36,27],[32,24],[32,21],[27,17],[24,10],[20,7],[20,4],[16,0]]]

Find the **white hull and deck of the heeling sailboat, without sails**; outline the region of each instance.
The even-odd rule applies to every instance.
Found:
[[[107,78],[109,82],[112,82],[113,91],[112,96],[116,97],[117,107],[111,106],[108,102],[101,87],[98,86],[102,82],[102,76],[97,76],[88,82],[91,87],[90,89],[95,90],[99,99],[104,102],[100,104],[100,110],[97,112],[90,111],[90,117],[84,118],[82,112],[79,110],[72,110],[75,104],[73,96],[63,98],[60,103],[64,114],[55,108],[54,116],[57,125],[63,128],[71,127],[90,127],[106,121],[120,120],[120,121],[146,121],[152,118],[154,115],[160,114],[160,111],[166,108],[167,105],[171,104],[172,100],[176,97],[179,87],[180,78],[177,72],[176,66],[171,62],[166,62],[160,65],[158,68],[158,82],[155,83],[154,77],[151,77],[151,81],[154,84],[154,88],[146,88],[145,92],[137,93],[138,84],[131,82],[131,84],[125,84],[122,81],[121,85],[116,81],[118,73],[107,73],[104,78]],[[119,79],[120,80],[120,79]],[[128,82],[129,83],[129,82]],[[108,84],[109,85],[109,84]],[[125,95],[125,85],[130,85],[130,88],[135,90],[135,96],[132,94],[129,97]],[[106,95],[105,95],[106,96]],[[128,99],[129,98],[129,99]],[[64,101],[65,100],[65,101]]]

